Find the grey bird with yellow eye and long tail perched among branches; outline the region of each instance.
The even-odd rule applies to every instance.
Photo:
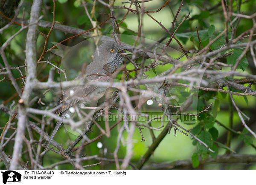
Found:
[[[125,45],[126,46],[126,45]],[[122,49],[125,46],[120,46],[113,41],[103,42],[99,46],[99,50],[95,51],[93,62],[91,62],[86,70],[85,75],[88,81],[101,81],[107,82],[111,79],[110,74],[113,73],[124,60],[125,53],[122,53]],[[83,77],[83,74],[79,74],[77,78]],[[86,105],[92,100],[99,100],[106,91],[106,87],[97,87],[93,85],[86,85],[85,87],[72,87],[63,91],[61,100],[59,103],[62,105],[55,114],[60,114],[62,120],[67,116],[69,109],[78,104],[80,107]],[[52,142],[58,128],[61,126],[62,121],[58,120],[52,134],[47,142],[45,150]]]

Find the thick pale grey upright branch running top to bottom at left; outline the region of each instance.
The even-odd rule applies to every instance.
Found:
[[[13,148],[12,161],[10,165],[10,169],[16,169],[18,165],[18,161],[22,151],[22,142],[26,127],[26,111],[24,105],[29,104],[29,98],[32,93],[32,81],[36,79],[36,40],[38,37],[38,25],[34,24],[38,21],[40,10],[41,10],[42,0],[34,0],[31,13],[30,13],[30,24],[29,30],[27,32],[26,37],[26,63],[27,63],[27,76],[26,76],[26,84],[19,100],[20,107],[18,111],[18,123],[17,123],[17,134],[15,136],[15,144]]]

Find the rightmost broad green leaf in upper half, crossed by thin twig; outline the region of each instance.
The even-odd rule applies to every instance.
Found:
[[[242,52],[243,51],[238,50],[238,49],[234,50],[234,54],[231,54],[231,55],[227,56],[227,63],[235,65],[239,56],[242,54]],[[237,69],[241,69],[241,70],[244,71],[247,68],[248,64],[249,63],[248,63],[247,58],[243,57],[240,60],[239,65],[237,66]]]

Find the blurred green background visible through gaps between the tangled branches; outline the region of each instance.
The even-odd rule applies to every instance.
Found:
[[[256,3],[253,0],[238,0],[239,3],[241,3],[241,12],[243,14],[253,14],[256,9]],[[129,6],[129,4],[123,4],[121,0],[116,0],[115,6]],[[165,3],[165,0],[152,0],[150,2],[145,3],[145,10],[156,10],[163,6]],[[18,15],[19,18],[22,17],[24,8],[24,18],[29,19],[29,12],[32,5],[32,0],[25,0],[23,5],[21,6],[20,13]],[[94,21],[98,21],[98,23],[101,23],[102,21],[106,20],[108,15],[106,13],[109,13],[109,9],[106,9],[106,7],[102,6],[99,2],[96,3],[95,7],[95,17],[93,17]],[[151,15],[161,22],[163,26],[165,26],[168,30],[171,30],[172,21],[174,18],[174,14],[176,13],[178,7],[180,6],[179,0],[170,1],[166,7],[164,7],[161,11],[157,13],[151,13]],[[52,7],[53,3],[52,0],[44,0],[43,3],[43,9],[42,14],[44,17],[42,20],[46,21],[52,21]],[[87,0],[87,9],[89,12],[91,12],[93,8],[93,0]],[[131,6],[132,9],[134,9],[134,6]],[[233,9],[234,12],[237,12],[236,10],[236,1],[233,1]],[[116,17],[116,20],[119,22],[122,20],[122,17],[126,14],[127,10],[125,9],[114,9],[114,15]],[[202,39],[202,45],[206,46],[209,43],[209,39],[214,38],[219,31],[224,30],[224,15],[223,10],[220,5],[220,1],[218,0],[185,0],[183,3],[183,6],[180,10],[180,13],[177,16],[177,20],[175,22],[174,28],[177,28],[177,25],[180,23],[180,21],[183,19],[184,15],[188,14],[189,19],[187,19],[178,29],[177,34],[175,35],[178,40],[183,44],[184,48],[186,50],[190,49],[199,49],[199,42],[197,36],[195,36],[196,27],[199,30],[199,33],[201,34]],[[90,29],[93,26],[90,23],[90,20],[88,19],[87,15],[85,14],[84,7],[81,5],[80,0],[58,0],[56,2],[56,10],[55,10],[55,20],[58,22],[63,23],[64,25],[73,26],[76,28],[81,28],[84,30]],[[129,12],[126,19],[123,21],[123,23],[120,25],[120,34],[124,35],[131,35],[136,38],[137,31],[138,31],[138,17],[136,13]],[[237,21],[234,23],[236,24]],[[213,33],[209,35],[209,28],[210,26],[214,26]],[[253,23],[249,19],[241,19],[239,22],[239,26],[236,31],[236,36],[241,34],[242,32],[252,28]],[[211,27],[213,28],[213,27]],[[13,24],[9,28],[3,31],[3,33],[0,34],[0,43],[1,45],[15,32],[17,32],[20,29],[19,25]],[[39,30],[42,31],[44,34],[47,34],[49,31],[49,28],[41,28],[39,27]],[[102,34],[111,34],[112,33],[112,26],[110,24],[110,21],[108,23],[105,23],[101,26],[99,29],[102,31]],[[26,31],[22,31],[20,34],[15,37],[10,44],[5,49],[6,56],[9,60],[9,64],[12,67],[17,67],[24,64],[25,60],[25,43],[26,43]],[[143,15],[143,34],[144,37],[148,40],[157,41],[162,37],[165,37],[166,31],[160,27],[154,20],[152,20],[150,17],[148,17],[146,14]],[[207,34],[207,35],[205,35]],[[63,33],[61,31],[53,30],[52,34],[49,37],[47,48],[50,48],[53,46],[52,42],[60,42],[61,40],[64,40],[68,37],[73,36],[73,34]],[[166,40],[168,40],[169,37],[167,36],[163,40],[163,44],[166,43]],[[75,37],[71,40],[67,40],[66,42],[62,43],[65,46],[76,46],[76,44],[81,43],[84,41],[83,37]],[[131,40],[126,39],[125,36],[121,35],[121,41],[123,42],[130,42]],[[224,37],[221,37],[219,40],[216,41],[216,43],[212,44],[211,49],[217,49],[221,45],[225,43]],[[37,40],[37,51],[38,56],[40,56],[42,48],[44,46],[44,37],[39,34],[38,40]],[[172,40],[172,43],[170,44],[170,51],[168,51],[168,54],[174,58],[179,57],[182,53],[182,51],[179,48],[179,45],[175,42],[175,40]],[[84,62],[90,63],[92,61],[91,55],[93,54],[94,48],[91,48],[89,46],[85,46],[84,48],[81,48],[79,57],[80,59],[73,58],[74,63],[72,63],[73,69],[70,70],[67,69],[68,79],[73,79],[76,77],[77,74],[81,72],[81,64]],[[74,56],[74,55],[73,55]],[[56,56],[52,54],[51,52],[47,53],[44,58],[47,59],[49,57],[50,61],[54,63],[55,65],[60,66],[60,60],[61,57]],[[243,71],[242,69],[238,69],[239,72],[244,74],[256,74],[255,67],[253,66],[252,58],[250,54],[246,55],[248,64]],[[82,59],[82,60],[81,60]],[[186,60],[185,57],[183,57],[181,60]],[[0,63],[3,64],[2,59],[0,58]],[[157,66],[156,71],[157,74],[159,74],[162,71],[166,71],[168,68],[170,68],[172,65],[164,65],[164,66]],[[47,75],[49,73],[49,69],[51,68],[51,65],[47,64],[39,64],[38,65],[38,79],[41,81],[47,81]],[[127,64],[128,69],[133,69],[134,66],[131,65],[131,63]],[[224,67],[222,69],[223,71],[229,71],[230,67]],[[24,68],[21,68],[21,71],[23,74],[25,74]],[[20,77],[20,73],[17,70],[12,70],[13,75],[15,78]],[[154,71],[148,71],[147,74],[149,77],[155,76]],[[135,75],[135,73],[131,73],[131,75]],[[236,77],[234,77],[236,78]],[[0,75],[0,80],[3,79],[3,75]],[[58,71],[55,71],[55,80],[59,81],[60,77],[58,75]],[[17,83],[20,85],[20,87],[23,86],[22,80],[17,80]],[[247,86],[248,84],[245,84]],[[255,89],[255,85],[252,85],[252,88]],[[227,90],[227,88],[224,88]],[[14,108],[14,104],[12,102],[17,103],[18,97],[17,94],[15,95],[15,89],[11,85],[10,81],[3,80],[0,82],[0,103],[3,103],[5,106],[9,107],[12,106]],[[36,92],[33,93],[33,96],[35,96]],[[251,119],[248,121],[248,125],[252,128],[253,131],[256,131],[256,124],[255,124],[255,111],[256,111],[256,99],[253,96],[233,96],[237,105],[243,111],[247,116],[249,116]],[[58,96],[53,91],[49,91],[45,97],[42,99],[43,102],[47,103],[48,108],[51,108],[55,105],[55,103],[58,101]],[[223,94],[216,93],[214,96],[210,97],[209,100],[207,98],[202,98],[204,101],[204,105],[208,106],[211,102],[213,102],[213,105],[215,104],[215,100],[219,100],[220,102],[220,109],[218,110],[217,117],[215,120],[221,122],[224,125],[228,126],[229,122],[229,100],[228,96],[223,97]],[[35,103],[33,105],[34,108],[47,108],[47,106],[38,105]],[[190,111],[193,111],[192,108],[190,108]],[[194,110],[195,111],[195,110]],[[113,111],[113,113],[118,114],[117,111]],[[154,114],[154,112],[148,112],[148,114]],[[38,116],[38,118],[41,118]],[[0,111],[0,127],[2,131],[2,128],[8,122],[9,115],[6,114],[3,111]],[[241,120],[239,119],[239,116],[237,112],[234,110],[233,113],[233,122],[234,122],[234,129],[237,131],[242,131],[243,127],[241,126]],[[13,123],[17,123],[17,120],[14,120]],[[102,128],[104,128],[105,124],[103,121],[99,122],[100,125],[102,125]],[[114,122],[110,122],[110,125],[112,125]],[[14,124],[14,125],[15,125]],[[51,122],[49,125],[47,125],[47,131],[48,134],[51,133],[53,122]],[[165,122],[166,124],[166,122]],[[185,128],[192,128],[195,125],[186,125],[182,124]],[[157,127],[160,126],[160,121],[153,121],[152,126]],[[40,126],[40,125],[39,125]],[[218,125],[216,122],[214,124],[214,127],[218,130],[218,142],[221,142],[225,144],[226,141],[226,135],[227,131],[222,126]],[[55,135],[55,140],[57,142],[63,143],[63,146],[67,146],[67,143],[65,143],[70,137],[71,140],[76,138],[75,133],[69,130],[68,126],[62,126],[57,134]],[[143,129],[143,136],[145,137],[145,141],[141,142],[141,135],[140,131],[137,129],[134,132],[134,149],[133,153],[134,156],[132,157],[131,162],[136,162],[140,159],[143,154],[145,154],[145,151],[147,151],[148,146],[151,145],[152,139],[151,135],[149,133],[149,130],[147,128]],[[9,137],[13,131],[9,131],[6,137]],[[154,134],[157,136],[160,133],[160,131],[154,131]],[[34,133],[35,139],[39,139],[39,135]],[[98,136],[101,134],[98,128],[95,126],[93,127],[93,132],[88,134],[88,137],[90,139]],[[113,158],[113,152],[116,148],[116,142],[117,137],[119,134],[119,126],[114,128],[111,131],[111,137],[107,138],[106,136],[103,136],[101,139],[99,139],[96,142],[91,143],[90,145],[87,145],[84,148],[84,154],[90,156],[99,154],[99,157],[109,157]],[[126,133],[124,133],[125,136]],[[67,137],[68,136],[68,137]],[[97,143],[102,142],[103,147],[98,148]],[[123,141],[122,141],[123,142]],[[121,143],[122,143],[121,142]],[[4,151],[6,154],[12,154],[12,146],[14,141],[10,141],[9,145],[6,145],[4,148]],[[256,139],[252,137],[252,143],[256,145]],[[25,146],[25,144],[24,144]],[[247,146],[244,144],[243,140],[239,139],[237,136],[233,135],[233,140],[231,142],[231,146],[234,151],[238,154],[255,154],[255,148],[251,147],[250,145]],[[192,145],[192,139],[189,136],[185,136],[184,134],[181,134],[180,132],[177,132],[177,136],[175,137],[173,134],[173,131],[171,131],[170,134],[168,134],[163,141],[160,143],[160,145],[157,147],[157,149],[154,151],[154,154],[150,157],[148,163],[150,162],[172,162],[176,160],[183,160],[183,159],[190,159],[192,154],[197,151],[197,147],[195,145]],[[126,148],[121,145],[118,157],[120,159],[125,157],[125,151]],[[225,154],[226,150],[224,148],[219,148],[218,154]],[[51,165],[55,162],[61,161],[63,158],[59,156],[58,154],[49,151],[44,156],[43,164],[44,166]],[[90,165],[93,163],[97,163],[99,161],[97,160],[89,160],[84,163],[84,165]],[[103,167],[104,166],[104,167]],[[0,162],[0,168],[5,168],[3,165],[3,162]],[[72,165],[59,165],[58,169],[72,169]],[[115,169],[115,163],[114,162],[102,162],[100,165],[87,167],[87,169]],[[203,169],[256,169],[256,165],[244,165],[244,164],[207,164],[201,167]]]

